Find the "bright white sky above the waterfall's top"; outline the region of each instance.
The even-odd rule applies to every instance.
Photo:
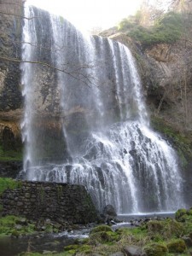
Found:
[[[141,0],[27,0],[27,3],[62,15],[83,30],[106,29],[133,15]]]

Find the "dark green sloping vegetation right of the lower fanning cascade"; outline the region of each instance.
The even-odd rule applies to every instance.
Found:
[[[155,131],[160,131],[172,143],[173,147],[177,150],[183,167],[187,166],[188,160],[192,159],[192,139],[177,131],[172,125],[157,116],[151,117],[151,126],[154,127]]]

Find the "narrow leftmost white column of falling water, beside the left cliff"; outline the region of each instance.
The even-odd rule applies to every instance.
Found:
[[[26,8],[24,15],[26,17],[34,16],[33,10]],[[36,61],[36,55],[32,49],[32,44],[37,44],[34,20],[32,20],[32,22],[24,23],[22,40],[24,42],[22,45],[22,60]],[[24,155],[24,170],[26,171],[30,165],[34,165],[32,162],[34,154],[33,142],[35,141],[35,137],[32,132],[32,123],[34,118],[34,105],[32,96],[34,94],[34,84],[32,84],[32,77],[35,73],[35,69],[32,67],[31,63],[25,62],[21,64],[21,70],[23,74],[21,80],[21,84],[23,85],[22,95],[25,97],[25,114],[21,123],[21,131],[22,139],[26,143],[26,152]]]

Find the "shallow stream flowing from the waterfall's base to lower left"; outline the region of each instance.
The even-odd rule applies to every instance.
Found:
[[[154,218],[173,218],[174,212],[153,212],[153,213],[137,213],[137,214],[121,214],[118,216],[122,222],[114,224],[113,230],[120,227],[134,227],[132,222],[139,222],[141,219]],[[21,238],[3,237],[0,238],[0,255],[1,256],[17,256],[22,252],[61,252],[63,247],[71,245],[76,239],[87,238],[93,225],[87,227],[82,226],[79,230],[65,231],[58,234],[22,236]]]

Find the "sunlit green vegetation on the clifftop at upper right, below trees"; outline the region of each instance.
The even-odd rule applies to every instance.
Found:
[[[154,26],[144,27],[139,25],[137,17],[135,19],[124,19],[119,23],[119,31],[126,32],[128,36],[150,47],[154,44],[175,43],[182,35],[183,14],[169,12],[155,20]]]

